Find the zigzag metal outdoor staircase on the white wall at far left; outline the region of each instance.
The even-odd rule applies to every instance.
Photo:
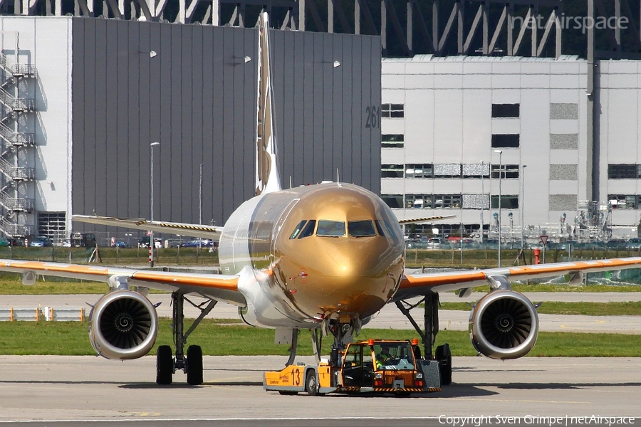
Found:
[[[33,226],[24,224],[33,211],[33,197],[24,195],[26,181],[35,179],[33,167],[21,167],[26,150],[36,145],[33,133],[19,132],[24,115],[33,114],[33,97],[18,97],[22,79],[37,78],[36,68],[28,64],[13,64],[0,53],[0,232],[9,238],[30,236]],[[22,214],[22,216],[21,216]]]

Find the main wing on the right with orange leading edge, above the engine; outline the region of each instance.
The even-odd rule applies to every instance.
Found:
[[[574,261],[570,263],[523,265],[521,267],[489,268],[486,270],[452,271],[448,273],[406,274],[401,281],[394,300],[425,295],[429,292],[447,292],[488,285],[492,278],[505,280],[528,280],[570,275],[570,280],[582,277],[583,273],[641,268],[641,258],[618,258],[609,260]]]

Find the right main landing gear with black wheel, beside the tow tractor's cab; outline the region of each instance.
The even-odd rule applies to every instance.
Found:
[[[421,302],[424,303],[424,330],[421,330],[410,314],[410,310],[418,307]],[[449,344],[439,345],[436,348],[436,357],[432,353],[432,346],[439,333],[439,294],[427,294],[423,300],[420,300],[415,305],[410,305],[405,301],[397,301],[396,306],[407,317],[407,320],[410,320],[410,323],[421,337],[425,359],[436,359],[439,362],[441,384],[446,386],[452,384],[452,352],[449,349]]]

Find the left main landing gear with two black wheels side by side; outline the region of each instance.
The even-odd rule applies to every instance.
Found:
[[[184,332],[184,302],[200,310],[200,315],[187,332]],[[187,337],[194,332],[205,316],[212,311],[216,300],[209,300],[203,308],[189,301],[181,292],[172,293],[172,332],[174,345],[176,346],[176,357],[172,357],[172,348],[168,345],[158,347],[156,354],[156,382],[160,385],[172,384],[172,376],[182,369],[187,374],[187,384],[198,386],[202,384],[202,348],[198,345],[190,345],[187,348],[187,355],[184,354],[184,345],[187,344]]]

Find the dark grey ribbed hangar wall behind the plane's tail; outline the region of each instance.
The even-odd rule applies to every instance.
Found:
[[[73,214],[148,218],[151,142],[155,219],[199,221],[200,164],[203,223],[254,196],[255,28],[77,18],[72,36]],[[338,169],[380,193],[380,38],[271,41],[283,187]]]

